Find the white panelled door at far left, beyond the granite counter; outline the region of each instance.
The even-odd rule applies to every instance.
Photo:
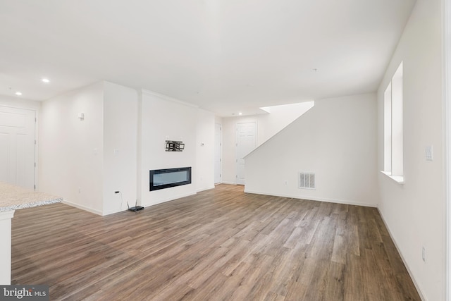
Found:
[[[35,189],[35,111],[0,106],[0,181]]]

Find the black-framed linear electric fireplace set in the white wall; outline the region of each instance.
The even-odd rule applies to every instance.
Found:
[[[150,173],[150,191],[191,184],[191,167],[156,169]]]

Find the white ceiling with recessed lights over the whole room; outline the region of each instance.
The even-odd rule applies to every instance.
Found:
[[[0,94],[108,80],[231,116],[374,92],[414,2],[0,0]]]

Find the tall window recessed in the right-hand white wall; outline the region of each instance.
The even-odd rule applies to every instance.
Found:
[[[384,173],[397,182],[404,181],[402,130],[402,63],[384,92]]]

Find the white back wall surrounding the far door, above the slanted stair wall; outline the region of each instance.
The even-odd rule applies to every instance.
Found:
[[[262,145],[273,135],[295,121],[299,116],[308,111],[313,102],[301,102],[298,104],[287,104],[271,107],[271,113],[253,116],[239,116],[222,118],[223,125],[223,173],[222,182],[228,184],[236,183],[236,124],[257,124],[257,147]]]

